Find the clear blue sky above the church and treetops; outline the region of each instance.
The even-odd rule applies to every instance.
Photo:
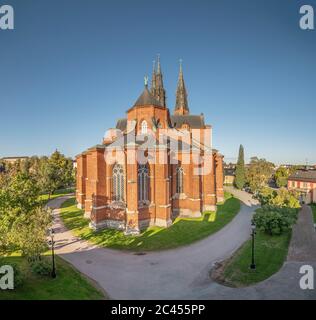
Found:
[[[74,156],[124,117],[161,55],[173,110],[183,59],[191,113],[234,161],[316,163],[315,0],[28,0],[0,30],[0,157]],[[0,1],[3,4],[3,1]]]

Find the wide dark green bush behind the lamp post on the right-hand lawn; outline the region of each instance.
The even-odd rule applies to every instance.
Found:
[[[289,230],[297,219],[297,209],[264,206],[256,210],[253,222],[270,235],[280,235]]]

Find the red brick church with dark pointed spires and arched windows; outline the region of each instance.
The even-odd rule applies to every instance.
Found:
[[[102,143],[77,156],[76,199],[91,228],[137,234],[177,216],[200,217],[224,199],[223,156],[211,147],[203,114],[190,114],[182,66],[173,114],[159,58],[147,82]]]

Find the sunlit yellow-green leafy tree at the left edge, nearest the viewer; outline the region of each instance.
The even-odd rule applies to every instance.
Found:
[[[46,250],[50,223],[35,179],[20,171],[5,173],[0,184],[0,250],[21,250],[29,259],[38,258]]]

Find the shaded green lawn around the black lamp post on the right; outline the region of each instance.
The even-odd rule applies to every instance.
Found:
[[[256,270],[250,270],[251,240],[248,240],[226,265],[223,276],[228,285],[247,286],[265,280],[283,265],[291,238],[291,231],[270,236],[258,231],[255,237]]]

